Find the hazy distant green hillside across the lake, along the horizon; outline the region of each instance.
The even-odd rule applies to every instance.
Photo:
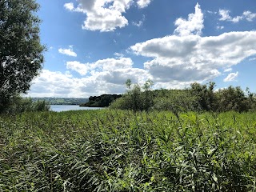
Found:
[[[88,98],[31,98],[33,102],[45,101],[49,105],[80,105],[88,102]]]

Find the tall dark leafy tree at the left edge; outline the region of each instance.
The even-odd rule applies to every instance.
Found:
[[[0,112],[42,69],[38,9],[35,0],[0,1]]]

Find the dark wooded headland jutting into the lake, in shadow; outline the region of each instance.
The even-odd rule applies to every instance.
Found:
[[[121,94],[102,94],[100,96],[90,96],[89,102],[82,103],[80,106],[106,107],[110,106],[110,103],[114,102],[115,99],[121,97]]]

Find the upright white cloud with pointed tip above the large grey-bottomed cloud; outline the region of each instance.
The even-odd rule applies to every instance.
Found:
[[[194,7],[194,10],[194,14],[189,14],[187,20],[184,18],[176,19],[174,24],[175,26],[177,26],[177,28],[174,30],[174,34],[177,34],[179,36],[202,34],[202,29],[204,27],[203,14],[199,4]]]

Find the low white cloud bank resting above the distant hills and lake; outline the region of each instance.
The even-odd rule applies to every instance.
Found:
[[[67,69],[77,71],[82,78],[75,78],[69,71],[42,70],[34,79],[28,96],[89,98],[106,93],[122,94],[128,78],[140,84],[151,78],[146,70],[132,65],[130,58],[106,58],[86,64],[66,62]]]

